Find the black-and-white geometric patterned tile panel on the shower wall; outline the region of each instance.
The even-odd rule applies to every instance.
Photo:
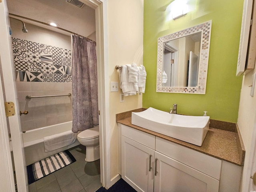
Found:
[[[16,81],[72,82],[71,50],[12,38]]]

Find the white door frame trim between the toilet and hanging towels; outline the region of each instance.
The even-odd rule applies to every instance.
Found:
[[[98,66],[98,103],[100,131],[100,181],[106,189],[111,187],[110,175],[110,116],[108,77],[108,16],[107,0],[80,0],[95,9],[96,53]]]

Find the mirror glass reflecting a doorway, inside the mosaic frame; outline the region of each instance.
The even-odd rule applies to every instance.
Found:
[[[164,42],[162,86],[197,86],[201,34],[198,32]]]

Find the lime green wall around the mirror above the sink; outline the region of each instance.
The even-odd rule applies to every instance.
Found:
[[[165,21],[165,8],[171,0],[144,0],[144,56],[147,71],[143,107],[203,115],[211,119],[237,122],[242,76],[236,77],[243,0],[196,0],[196,10]],[[191,26],[212,20],[206,94],[156,92],[157,40]]]

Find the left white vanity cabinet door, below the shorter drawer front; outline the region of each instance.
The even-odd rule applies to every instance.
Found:
[[[154,190],[154,150],[122,136],[122,178],[135,190]]]

